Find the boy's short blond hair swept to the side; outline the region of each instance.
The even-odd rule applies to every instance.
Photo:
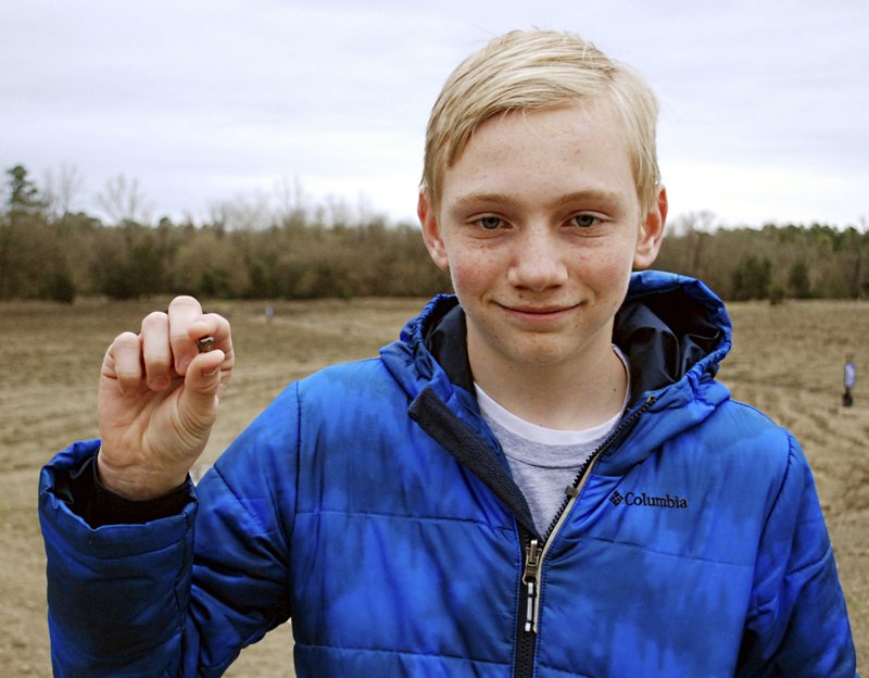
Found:
[[[492,116],[599,98],[624,124],[641,204],[654,204],[660,180],[655,96],[629,66],[576,35],[553,30],[496,37],[453,71],[429,117],[420,189],[439,204],[444,171]]]

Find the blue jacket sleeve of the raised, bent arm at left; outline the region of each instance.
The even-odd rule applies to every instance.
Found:
[[[177,514],[143,524],[93,528],[58,491],[98,441],[72,445],[42,469],[55,676],[219,676],[289,618],[297,403],[291,387]]]

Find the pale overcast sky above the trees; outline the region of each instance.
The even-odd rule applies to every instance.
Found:
[[[0,1],[0,163],[124,175],[152,216],[312,202],[414,219],[428,112],[512,28],[571,30],[660,101],[671,214],[727,225],[869,217],[867,0]]]

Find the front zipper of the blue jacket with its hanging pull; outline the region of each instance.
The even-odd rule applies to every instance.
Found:
[[[629,417],[618,425],[616,430],[601,443],[588,461],[579,469],[576,479],[565,491],[566,498],[561,510],[550,525],[546,535],[541,540],[529,535],[525,529],[519,530],[520,542],[525,547],[525,562],[522,567],[522,614],[518,615],[519,624],[516,639],[516,665],[514,678],[531,678],[534,673],[534,655],[537,653],[537,627],[540,620],[540,586],[543,573],[543,561],[555,541],[555,536],[567,519],[567,515],[579,499],[591,469],[600,456],[608,450],[616,440],[633,426],[637,419],[655,403],[655,397],[648,395],[645,403],[635,410]]]

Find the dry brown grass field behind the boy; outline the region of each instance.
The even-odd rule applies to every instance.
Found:
[[[45,556],[36,517],[39,467],[73,439],[95,437],[102,353],[122,329],[168,300],[73,306],[0,304],[0,629],[4,675],[51,675],[45,622]],[[284,303],[267,323],[263,305],[219,302],[232,322],[239,365],[205,451],[213,460],[290,380],[337,361],[373,355],[396,337],[418,300]],[[815,468],[860,656],[869,652],[869,374],[855,406],[839,406],[844,353],[858,365],[869,305],[854,302],[736,304],[735,348],[720,377],[734,397],[789,426]],[[866,368],[864,368],[865,372]],[[287,629],[242,653],[231,676],[288,676]]]

